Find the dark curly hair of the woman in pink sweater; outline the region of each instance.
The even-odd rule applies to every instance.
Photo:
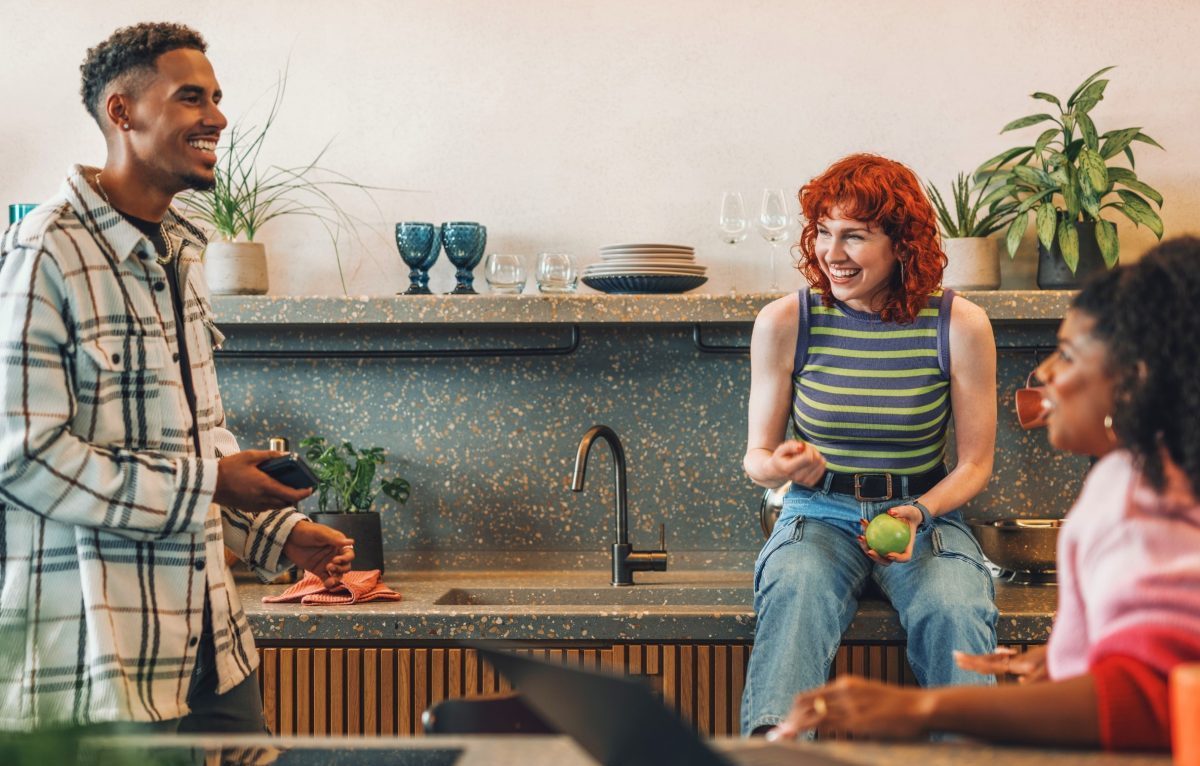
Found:
[[[1200,487],[1200,238],[1169,239],[1090,282],[1073,307],[1096,321],[1114,377],[1112,430],[1157,490],[1163,450]]]

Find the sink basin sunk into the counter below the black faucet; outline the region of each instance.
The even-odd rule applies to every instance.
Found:
[[[454,606],[750,606],[750,587],[450,588]]]

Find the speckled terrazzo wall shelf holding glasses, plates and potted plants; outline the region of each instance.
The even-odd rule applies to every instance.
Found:
[[[992,322],[1054,322],[1070,291],[980,291],[962,295]],[[221,325],[245,324],[691,324],[754,322],[780,294],[739,295],[226,295]]]

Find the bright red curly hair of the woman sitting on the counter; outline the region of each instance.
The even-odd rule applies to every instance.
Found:
[[[800,188],[804,228],[797,268],[822,301],[833,305],[829,277],[817,264],[817,222],[838,208],[842,217],[878,227],[900,259],[880,310],[884,322],[910,324],[942,283],[946,253],[937,238],[937,216],[906,166],[872,154],[853,154],[830,164]]]

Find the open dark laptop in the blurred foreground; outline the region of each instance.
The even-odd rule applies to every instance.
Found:
[[[846,766],[811,746],[739,742],[718,752],[632,678],[467,644],[524,702],[599,762],[620,766]]]

